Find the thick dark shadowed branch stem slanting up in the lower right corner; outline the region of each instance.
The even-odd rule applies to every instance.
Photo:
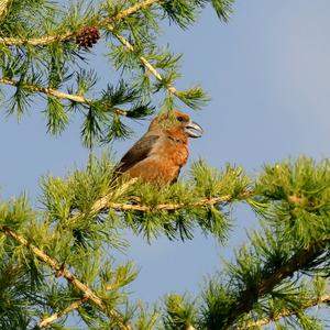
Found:
[[[330,241],[330,238],[323,235],[318,242],[309,244],[309,246],[299,250],[286,264],[278,267],[271,276],[263,279],[255,288],[257,297],[261,298],[266,294],[270,294],[273,288],[279,284],[286,277],[294,275],[295,272],[302,270],[309,263],[311,263],[317,256],[322,253],[322,248]],[[253,308],[254,300],[251,300],[251,294],[242,292],[239,302],[232,308],[232,312],[229,315],[226,324],[230,326],[238,317],[249,312]]]

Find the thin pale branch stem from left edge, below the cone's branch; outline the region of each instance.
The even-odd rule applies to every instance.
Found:
[[[8,79],[8,78],[3,78],[3,77],[0,78],[0,84],[1,82],[9,85],[9,86],[14,86],[14,87],[18,87],[19,85],[22,86],[21,81],[12,80],[12,79]],[[73,102],[82,103],[82,105],[87,105],[87,106],[91,106],[94,103],[94,100],[85,98],[80,95],[67,94],[67,92],[63,92],[61,90],[53,89],[50,87],[42,87],[42,86],[31,85],[31,84],[25,84],[25,82],[23,84],[23,87],[31,92],[40,92],[40,94],[44,94],[47,96],[54,96],[62,100],[69,100]],[[114,108],[113,112],[117,114],[120,114],[120,116],[127,116],[127,111],[123,109]]]

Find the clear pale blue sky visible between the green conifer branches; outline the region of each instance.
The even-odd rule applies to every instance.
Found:
[[[198,82],[211,96],[204,111],[183,108],[205,129],[201,139],[191,141],[190,160],[202,157],[218,168],[229,162],[255,175],[265,163],[289,156],[328,157],[330,1],[238,0],[234,9],[227,25],[208,8],[188,31],[172,25],[161,37],[161,44],[184,53],[177,88]],[[94,57],[96,69],[103,65]],[[42,175],[63,176],[74,165],[86,164],[79,123],[73,121],[55,139],[46,135],[41,110],[33,106],[20,124],[1,117],[1,199],[28,191],[35,201]],[[113,144],[118,158],[147,122],[134,128],[132,140]],[[198,293],[204,276],[221,270],[221,257],[230,258],[245,229],[255,227],[244,207],[238,207],[234,216],[237,227],[226,248],[198,232],[190,242],[161,239],[151,245],[128,234],[132,245],[120,257],[135,260],[141,270],[131,286],[133,297],[151,302],[168,292]]]

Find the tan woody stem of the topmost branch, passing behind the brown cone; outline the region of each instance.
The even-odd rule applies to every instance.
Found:
[[[4,0],[3,2],[8,2],[11,0]],[[141,2],[138,2],[136,4],[119,12],[112,18],[107,18],[99,23],[95,24],[96,28],[106,28],[109,26],[110,24],[113,24],[114,22],[119,22],[133,13],[146,9],[147,7],[151,7],[152,4],[161,2],[161,0],[144,0]],[[1,2],[0,2],[0,14],[1,14]],[[84,26],[85,28],[85,26]],[[84,29],[82,28],[82,29]],[[6,46],[21,46],[21,45],[32,45],[32,46],[45,46],[50,45],[55,42],[63,42],[73,38],[77,32],[73,31],[66,31],[61,33],[61,35],[44,35],[42,37],[34,37],[34,38],[19,38],[19,37],[0,37],[0,45],[6,45]]]

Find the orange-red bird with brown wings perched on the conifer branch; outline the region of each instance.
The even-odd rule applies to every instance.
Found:
[[[177,182],[189,156],[188,139],[200,138],[202,128],[178,110],[161,112],[146,133],[123,155],[118,173],[163,186]]]

